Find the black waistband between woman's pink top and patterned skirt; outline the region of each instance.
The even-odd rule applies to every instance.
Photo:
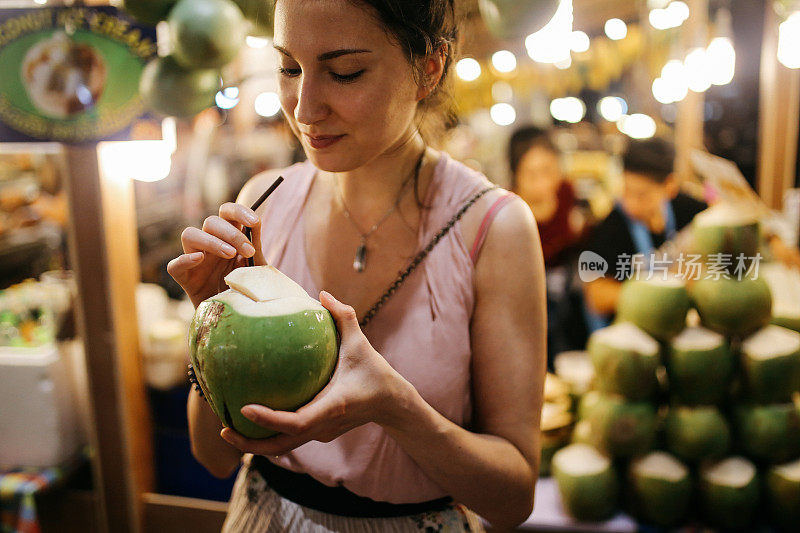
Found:
[[[388,503],[359,496],[344,487],[329,487],[308,474],[298,474],[254,455],[250,468],[258,471],[272,490],[298,505],[339,516],[388,518],[441,511],[452,503],[445,497],[421,503]]]

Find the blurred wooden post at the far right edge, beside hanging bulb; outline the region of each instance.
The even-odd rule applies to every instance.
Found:
[[[764,202],[779,209],[783,204],[784,192],[794,187],[795,181],[800,123],[800,69],[786,68],[778,61],[780,21],[772,2],[767,2],[765,9],[757,180],[758,194]]]

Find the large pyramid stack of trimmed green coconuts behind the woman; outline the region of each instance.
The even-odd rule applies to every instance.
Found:
[[[783,327],[800,325],[800,304],[772,305],[772,291],[800,291],[800,274],[760,265],[758,275],[748,258],[759,224],[741,210],[714,206],[692,232],[702,271],[626,281],[617,321],[589,339],[592,390],[572,444],[552,459],[565,509],[579,520],[625,510],[659,527],[800,530],[800,333]],[[734,258],[723,270],[720,253]]]

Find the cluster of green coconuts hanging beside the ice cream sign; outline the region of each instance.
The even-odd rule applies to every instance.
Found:
[[[241,50],[248,33],[270,35],[274,0],[124,0],[139,22],[166,20],[170,54],[147,64],[139,82],[145,105],[191,117],[214,105],[221,69]]]

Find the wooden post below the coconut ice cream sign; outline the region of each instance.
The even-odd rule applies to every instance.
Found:
[[[84,340],[101,531],[141,531],[153,486],[152,436],[139,358],[139,258],[133,186],[101,179],[97,145],[66,148],[70,255]]]

